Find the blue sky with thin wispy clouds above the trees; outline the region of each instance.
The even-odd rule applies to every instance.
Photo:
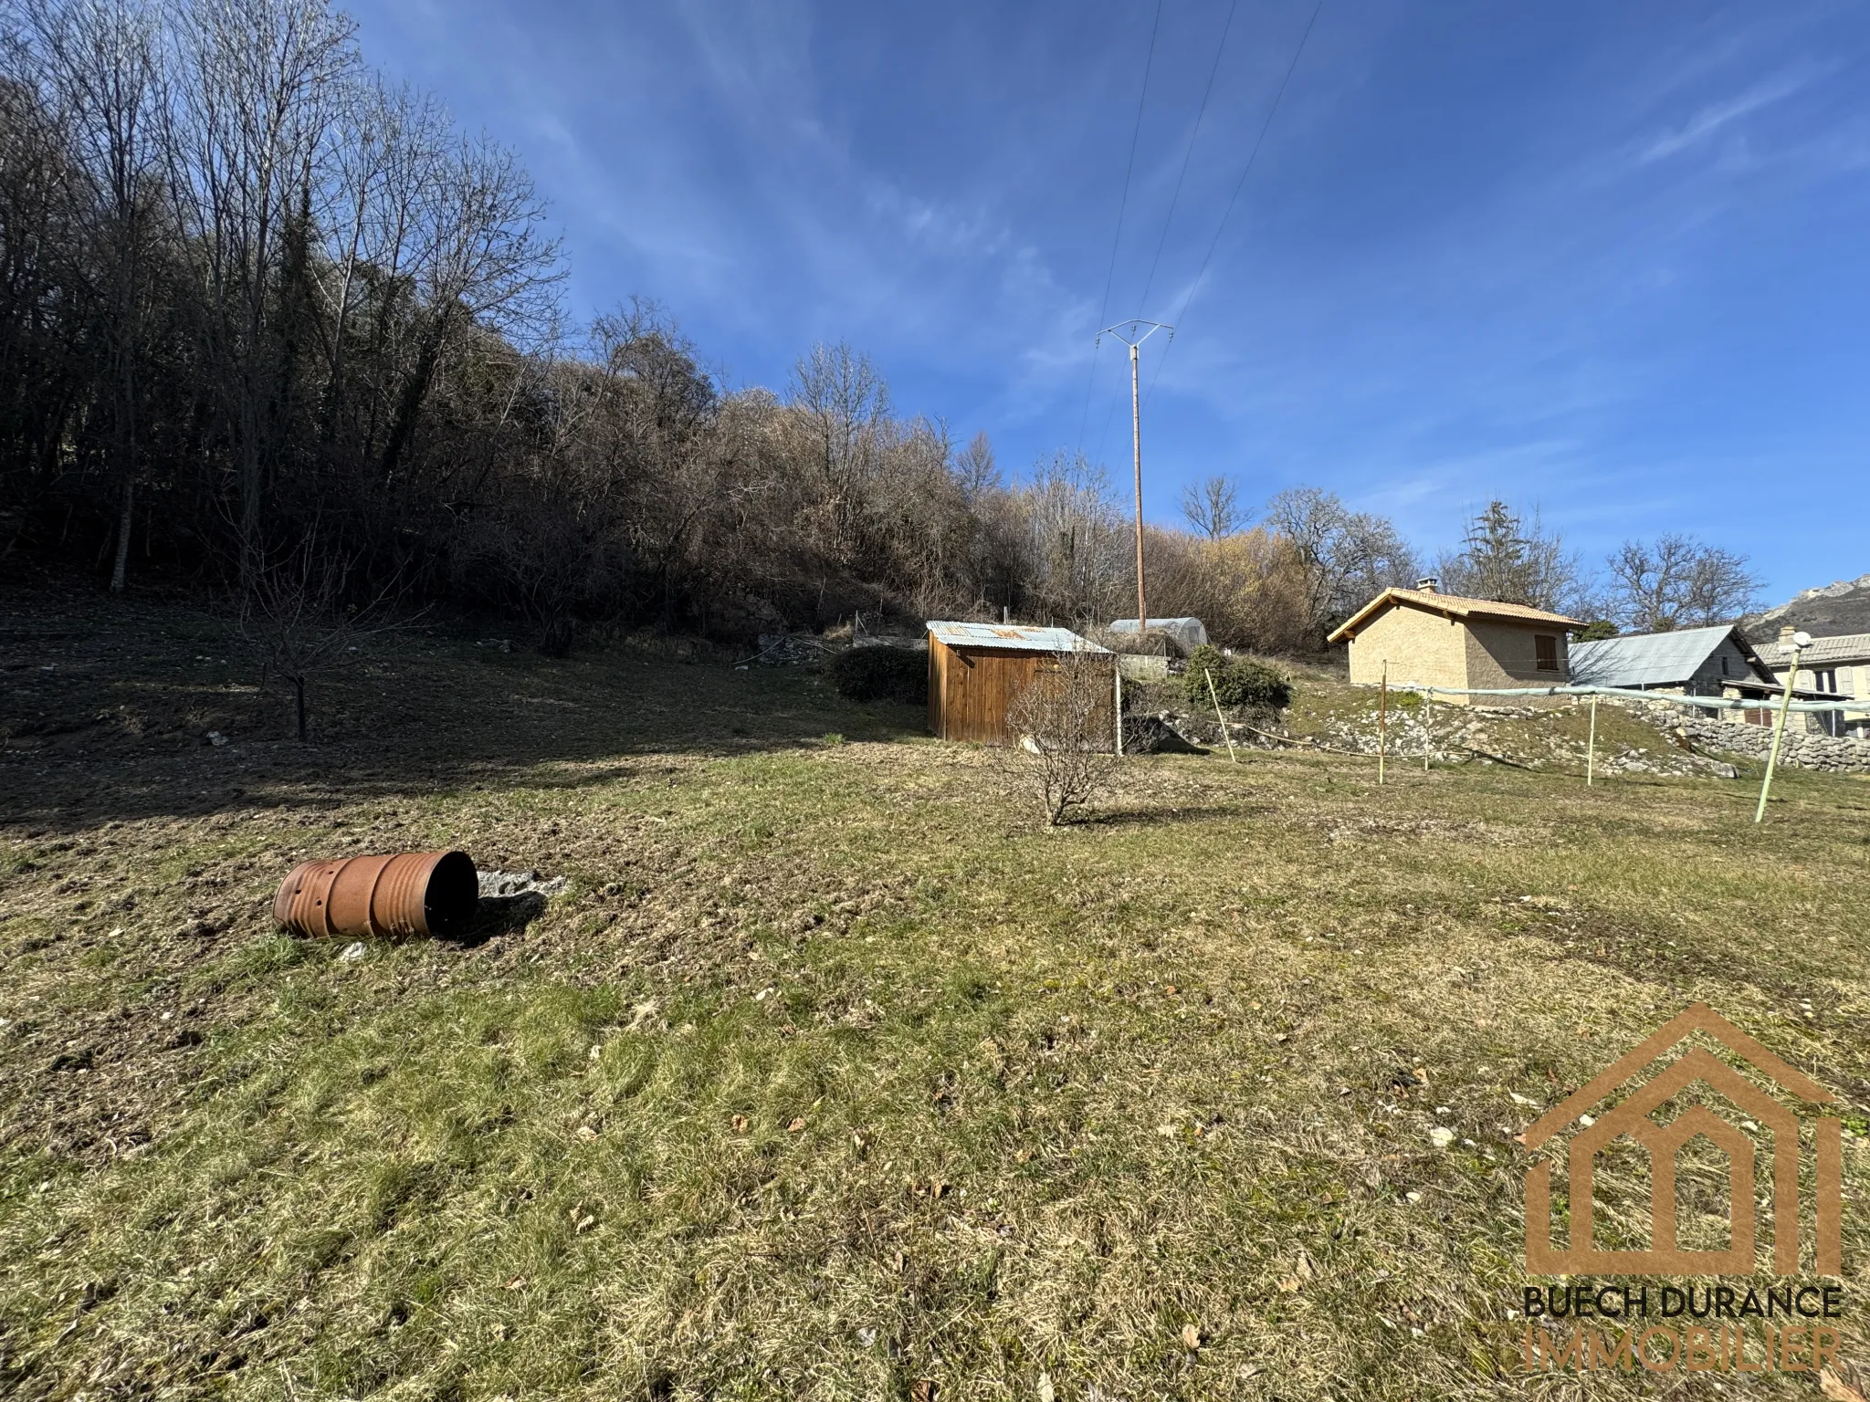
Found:
[[[574,314],[654,297],[731,385],[843,338],[1012,473],[1128,479],[1094,335],[1174,320],[1152,518],[1225,471],[1431,555],[1505,495],[1591,559],[1743,550],[1773,600],[1870,570],[1870,7],[1324,0],[1225,224],[1313,0],[1165,0],[1141,127],[1152,0],[352,13],[522,153]]]

